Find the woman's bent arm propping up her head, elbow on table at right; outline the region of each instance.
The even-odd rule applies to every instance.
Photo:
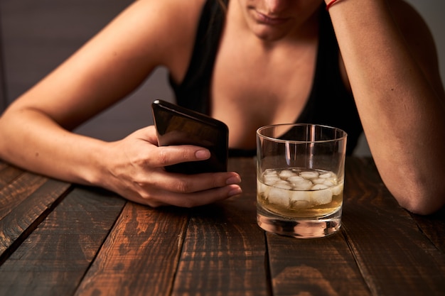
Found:
[[[445,204],[445,94],[426,24],[400,0],[339,0],[329,12],[382,180],[402,207],[435,212]]]

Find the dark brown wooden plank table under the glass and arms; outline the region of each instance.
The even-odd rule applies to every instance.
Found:
[[[323,239],[265,234],[254,160],[229,166],[240,197],[151,209],[0,162],[0,295],[445,295],[445,211],[399,207],[371,159]]]

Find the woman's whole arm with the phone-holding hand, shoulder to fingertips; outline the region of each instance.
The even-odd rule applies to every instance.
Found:
[[[9,106],[0,118],[0,158],[152,206],[189,207],[239,192],[232,185],[239,182],[235,173],[166,173],[164,165],[208,158],[208,151],[193,146],[159,148],[152,127],[114,143],[68,131],[132,92],[159,65],[181,79],[201,6],[202,1],[135,1]],[[196,191],[200,194],[190,194]]]

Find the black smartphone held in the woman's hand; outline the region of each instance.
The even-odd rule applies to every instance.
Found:
[[[196,174],[227,171],[229,128],[222,121],[176,104],[151,104],[159,146],[194,145],[210,150],[208,160],[166,166],[169,172]]]

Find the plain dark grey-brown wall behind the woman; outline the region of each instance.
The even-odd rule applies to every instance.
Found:
[[[0,0],[0,112],[131,3],[132,0]],[[409,0],[409,3],[427,19],[444,73],[445,1]],[[77,132],[113,141],[153,124],[151,102],[173,100],[166,75],[165,69],[156,70],[140,89]],[[357,153],[369,154],[365,141]]]

